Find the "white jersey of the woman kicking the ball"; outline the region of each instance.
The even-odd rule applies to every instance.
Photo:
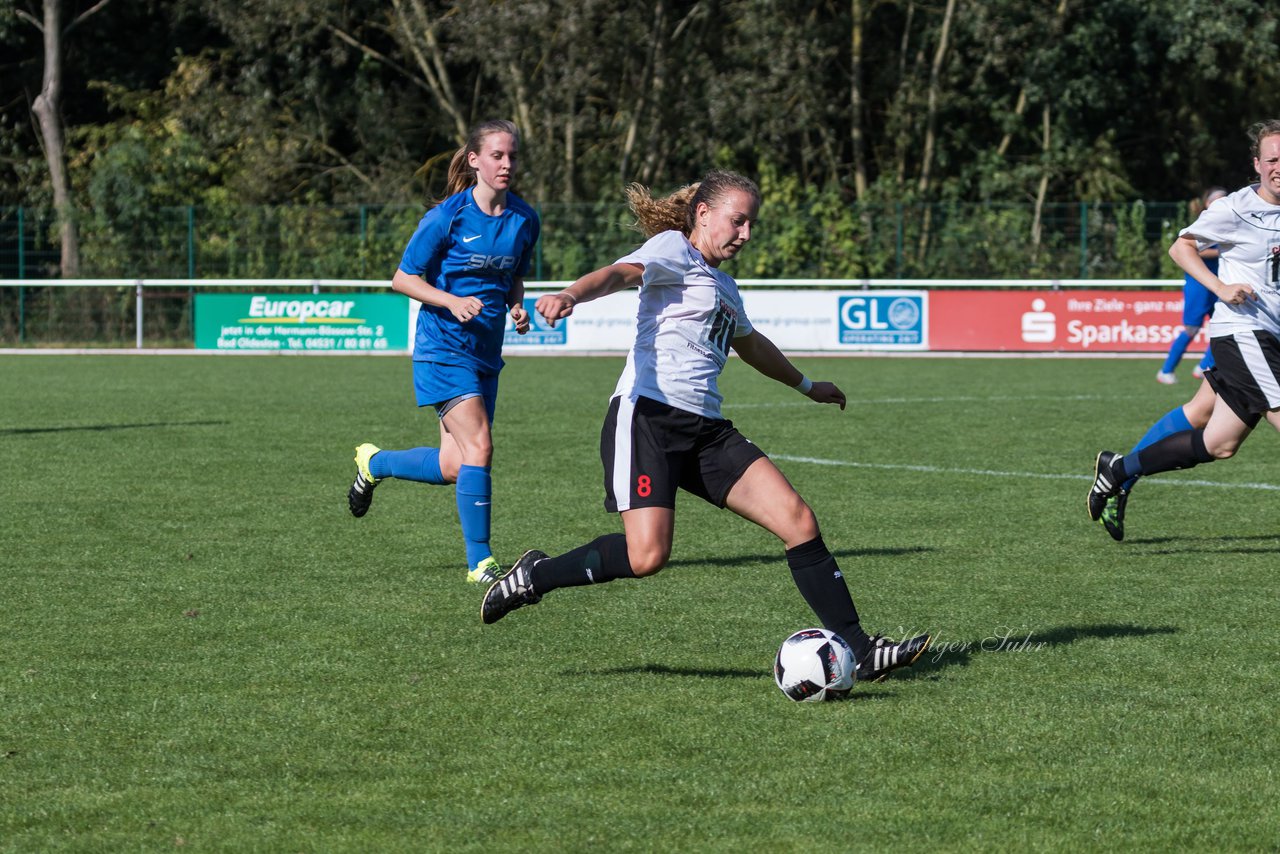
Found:
[[[613,396],[649,397],[721,417],[716,379],[730,341],[751,332],[733,277],[705,260],[680,232],[662,232],[620,264],[643,264],[636,342]]]

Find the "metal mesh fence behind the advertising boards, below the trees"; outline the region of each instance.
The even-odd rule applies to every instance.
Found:
[[[621,204],[543,205],[532,279],[573,279],[641,237]],[[77,215],[81,275],[95,279],[389,279],[422,209],[197,206]],[[1183,202],[768,205],[740,279],[1176,278],[1166,247]],[[49,287],[49,209],[0,207],[0,343],[129,346],[134,288]],[[29,286],[27,284],[29,282]],[[42,282],[45,284],[42,286]],[[206,286],[207,287],[207,282]],[[189,342],[193,288],[148,288],[143,335]]]

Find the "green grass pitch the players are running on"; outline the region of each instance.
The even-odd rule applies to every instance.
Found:
[[[1157,360],[732,362],[726,415],[815,508],[864,624],[931,630],[842,703],[773,685],[814,618],[767,533],[681,499],[660,575],[481,626],[401,359],[0,357],[0,850],[1275,850],[1280,455],[1094,453],[1189,397]],[[620,359],[513,359],[494,548],[618,530]]]

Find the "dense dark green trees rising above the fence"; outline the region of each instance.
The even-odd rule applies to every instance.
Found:
[[[538,204],[732,168],[765,230],[918,206],[916,260],[1014,205],[1034,264],[1055,205],[1240,186],[1280,115],[1268,0],[0,0],[0,207],[64,275],[92,216],[428,205],[493,117]]]

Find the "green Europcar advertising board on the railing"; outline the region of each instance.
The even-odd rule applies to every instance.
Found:
[[[408,350],[398,293],[197,293],[196,350]]]

